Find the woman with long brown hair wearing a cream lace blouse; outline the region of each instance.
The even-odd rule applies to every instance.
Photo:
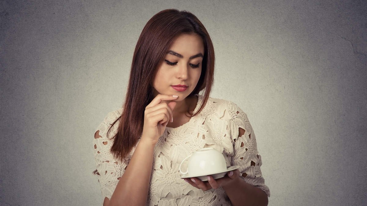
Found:
[[[267,205],[251,125],[236,104],[209,98],[213,77],[214,48],[195,15],[163,10],[148,21],[124,106],[95,133],[104,206]],[[183,158],[203,147],[240,168],[216,180],[179,179]]]

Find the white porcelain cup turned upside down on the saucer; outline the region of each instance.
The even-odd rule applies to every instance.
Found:
[[[182,163],[188,158],[190,158],[188,161],[188,169],[186,172],[182,172]],[[181,174],[198,177],[225,172],[227,170],[227,166],[222,153],[212,147],[208,147],[196,150],[193,154],[190,154],[188,157],[183,159],[179,170]]]

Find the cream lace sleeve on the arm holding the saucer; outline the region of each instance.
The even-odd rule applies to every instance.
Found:
[[[269,188],[265,185],[260,170],[262,162],[257,151],[255,134],[247,115],[235,103],[232,103],[230,107],[232,110],[231,136],[235,148],[232,165],[240,166],[241,179],[260,188],[270,197]]]

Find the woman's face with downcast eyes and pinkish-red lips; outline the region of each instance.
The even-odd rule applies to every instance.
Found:
[[[204,44],[197,34],[182,34],[171,45],[154,77],[154,96],[177,95],[185,99],[196,87],[201,74]]]

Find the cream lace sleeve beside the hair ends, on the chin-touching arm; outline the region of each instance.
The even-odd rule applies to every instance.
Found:
[[[98,126],[93,140],[93,153],[96,164],[96,170],[93,173],[98,176],[98,182],[102,192],[102,202],[105,197],[111,199],[113,191],[115,191],[116,185],[127,166],[127,160],[122,162],[118,161],[110,152],[113,140],[107,137],[107,131],[110,124],[116,119],[112,118],[111,115],[113,114],[110,113],[101,125]],[[111,129],[109,137],[115,134],[116,128],[117,126],[114,126]]]

